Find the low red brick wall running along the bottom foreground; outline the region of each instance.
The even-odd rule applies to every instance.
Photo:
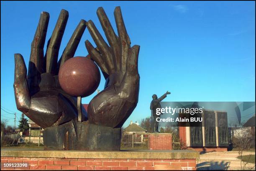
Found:
[[[28,170],[154,170],[155,165],[196,170],[196,159],[88,159],[1,157],[1,163],[29,163]],[[10,168],[9,170],[19,168]],[[8,170],[3,169],[1,170]]]

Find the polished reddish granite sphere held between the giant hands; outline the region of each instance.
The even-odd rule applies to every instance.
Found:
[[[59,69],[59,84],[71,96],[89,96],[100,84],[100,70],[88,57],[71,58]]]

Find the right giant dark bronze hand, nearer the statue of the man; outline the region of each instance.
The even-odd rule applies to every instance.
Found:
[[[114,11],[118,36],[103,8],[98,8],[97,15],[110,46],[104,41],[92,20],[89,20],[87,28],[97,48],[88,40],[85,45],[91,59],[100,66],[106,83],[105,89],[89,103],[88,121],[96,125],[120,128],[138,102],[139,46],[131,47],[120,7],[116,7]]]

